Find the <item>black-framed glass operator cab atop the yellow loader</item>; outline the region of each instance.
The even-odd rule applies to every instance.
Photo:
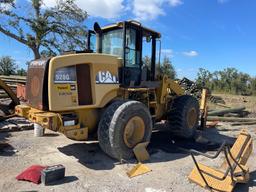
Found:
[[[143,27],[137,21],[124,21],[102,28],[95,23],[94,31],[89,31],[87,46],[96,53],[122,58],[120,84],[138,86],[142,81],[155,80],[156,40],[160,37],[160,33]],[[150,48],[146,50],[143,46],[145,42],[150,44]],[[150,59],[147,64],[143,63],[145,52]]]

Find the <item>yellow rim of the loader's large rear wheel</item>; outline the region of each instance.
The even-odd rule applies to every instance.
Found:
[[[133,148],[143,140],[145,124],[141,117],[135,116],[129,119],[124,128],[124,143]]]

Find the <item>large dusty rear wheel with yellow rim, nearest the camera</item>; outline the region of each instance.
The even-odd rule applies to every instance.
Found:
[[[129,128],[130,134],[127,136]],[[102,114],[98,140],[101,149],[110,157],[130,159],[134,156],[133,147],[150,141],[151,132],[152,119],[144,104],[138,101],[116,101]]]

